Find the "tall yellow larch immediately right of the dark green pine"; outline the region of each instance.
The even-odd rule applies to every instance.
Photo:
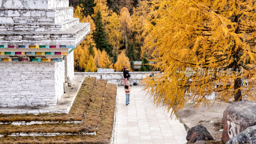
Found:
[[[107,42],[112,46],[112,54],[117,52],[120,47],[120,41],[122,39],[122,33],[120,31],[120,19],[116,12],[113,12],[109,17],[109,24],[106,28]]]

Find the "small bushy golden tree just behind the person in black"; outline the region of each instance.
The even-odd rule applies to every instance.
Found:
[[[117,61],[114,65],[114,69],[115,71],[122,71],[124,67],[129,68],[129,70],[132,71],[131,65],[129,63],[129,58],[125,55],[123,51],[117,56]]]

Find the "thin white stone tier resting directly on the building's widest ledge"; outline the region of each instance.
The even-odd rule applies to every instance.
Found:
[[[79,18],[66,20],[59,24],[46,23],[0,23],[0,31],[63,31],[79,23]]]

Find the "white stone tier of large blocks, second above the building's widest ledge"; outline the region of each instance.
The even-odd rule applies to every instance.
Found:
[[[52,23],[73,18],[73,7],[54,9],[1,8],[0,23]]]

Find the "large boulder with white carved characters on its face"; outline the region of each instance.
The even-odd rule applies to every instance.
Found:
[[[256,125],[256,102],[236,101],[223,113],[223,133],[221,140],[228,142],[247,127]]]

